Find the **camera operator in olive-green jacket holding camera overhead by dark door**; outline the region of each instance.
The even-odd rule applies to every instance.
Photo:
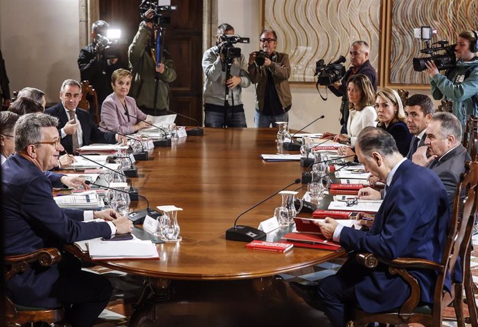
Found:
[[[144,17],[148,21],[141,21],[138,32],[128,48],[133,74],[130,96],[136,99],[136,104],[145,114],[162,116],[168,114],[166,110],[169,109],[169,83],[176,80],[177,74],[175,63],[168,51],[163,49],[161,62],[159,65],[156,62],[154,24],[150,21],[153,16],[154,10],[149,9],[145,12]],[[155,94],[156,106],[154,106]]]

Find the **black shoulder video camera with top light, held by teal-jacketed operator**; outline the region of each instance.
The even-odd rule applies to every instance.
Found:
[[[421,26],[421,28],[414,29],[414,37],[425,41],[427,45],[426,48],[421,49],[420,52],[430,55],[430,57],[414,58],[414,71],[424,71],[427,69],[425,66],[425,62],[427,61],[433,61],[439,71],[456,66],[457,55],[455,55],[454,47],[457,46],[457,44],[446,46],[449,42],[445,40],[430,44],[433,33],[436,33],[436,30],[432,30],[430,26]],[[439,46],[434,46],[434,44],[439,44]],[[445,51],[445,53],[439,54],[441,51]]]

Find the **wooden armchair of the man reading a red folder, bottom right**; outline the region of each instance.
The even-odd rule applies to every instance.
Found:
[[[467,303],[470,311],[472,310],[470,303],[475,304],[475,299],[470,299],[472,280],[470,271],[466,271],[466,260],[470,258],[471,233],[478,211],[478,162],[467,161],[465,166],[466,172],[461,175],[460,182],[457,184],[450,229],[448,231],[441,262],[435,263],[419,258],[384,260],[382,258],[376,258],[373,254],[357,255],[357,260],[366,267],[376,267],[378,262],[388,265],[391,274],[399,274],[400,277],[409,284],[411,294],[409,299],[407,299],[400,308],[391,310],[390,312],[369,313],[356,309],[353,312],[351,321],[348,321],[348,327],[364,326],[371,322],[391,325],[418,323],[427,327],[441,326],[442,313],[445,306],[453,306],[457,315],[458,326],[465,326],[463,318],[463,285],[466,290]],[[464,200],[461,201],[460,195],[463,193],[465,193],[466,196]],[[448,271],[452,272],[455,267],[462,267],[463,282],[454,283],[452,281],[451,294],[443,292],[446,273]],[[423,306],[423,303],[420,303],[421,290],[418,281],[407,272],[407,269],[417,268],[431,269],[437,274],[436,283],[434,285],[434,303],[431,307]],[[476,315],[471,318],[475,319],[475,321],[477,319]],[[478,322],[472,326],[476,327],[477,324]]]

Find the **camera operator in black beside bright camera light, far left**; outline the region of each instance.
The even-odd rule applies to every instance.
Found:
[[[91,26],[91,44],[85,46],[78,56],[78,68],[80,69],[81,81],[88,80],[96,90],[98,96],[98,113],[101,112],[103,100],[112,92],[112,73],[116,69],[125,68],[120,58],[105,57],[104,48],[98,46],[99,35],[107,35],[109,24],[106,21],[98,20]],[[94,110],[90,110],[91,118],[94,118]]]

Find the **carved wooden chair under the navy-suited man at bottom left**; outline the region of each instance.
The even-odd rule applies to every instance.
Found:
[[[51,266],[62,260],[60,251],[55,248],[39,249],[30,254],[22,254],[19,256],[6,256],[5,266],[6,273],[3,275],[5,281],[11,279],[15,274],[25,272],[30,263],[38,262],[45,267]],[[19,306],[6,296],[6,320],[8,324],[26,324],[43,321],[48,324],[57,324],[62,326],[64,319],[63,308],[37,308]]]

